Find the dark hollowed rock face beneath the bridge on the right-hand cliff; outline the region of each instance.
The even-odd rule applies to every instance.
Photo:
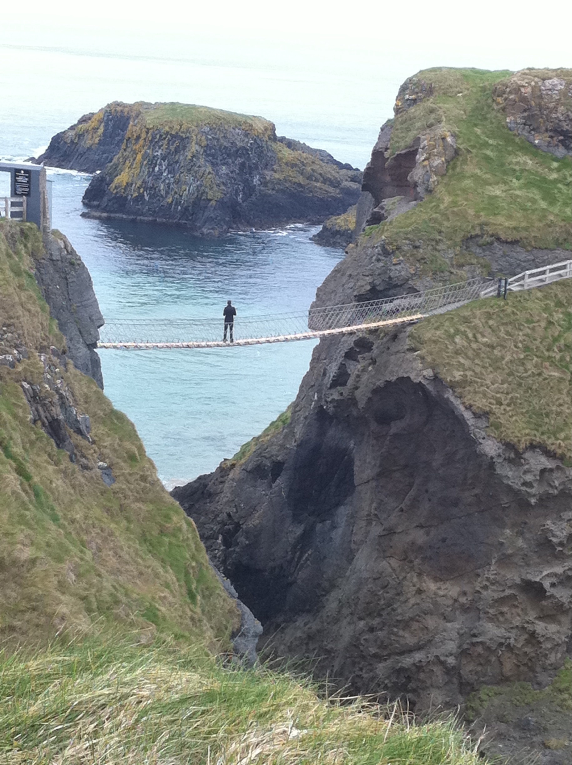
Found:
[[[566,656],[570,478],[407,350],[322,341],[290,425],[173,492],[277,653],[361,692],[456,705]]]

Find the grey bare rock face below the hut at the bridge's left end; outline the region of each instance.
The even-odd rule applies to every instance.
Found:
[[[77,369],[103,389],[100,357],[95,349],[103,316],[90,272],[62,234],[51,235],[44,257],[36,260],[36,281],[67,341],[67,353]]]

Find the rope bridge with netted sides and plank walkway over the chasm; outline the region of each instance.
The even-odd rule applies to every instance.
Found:
[[[233,346],[310,340],[332,334],[407,324],[424,316],[449,311],[479,298],[490,285],[476,278],[396,298],[311,308],[305,313],[237,317]],[[108,319],[98,348],[144,350],[149,348],[218,348],[224,319]]]

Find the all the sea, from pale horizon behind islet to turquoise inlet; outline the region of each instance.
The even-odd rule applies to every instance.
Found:
[[[2,42],[5,159],[37,155],[55,132],[111,100],[143,99],[260,114],[276,122],[279,135],[363,168],[401,77],[364,82],[351,62],[315,56],[312,63],[311,50],[245,53],[230,45],[213,52],[197,45],[191,52],[171,46],[166,54],[150,39],[126,38],[118,49],[88,32],[81,41],[54,41],[39,32],[34,38],[33,30]],[[15,60],[18,77],[8,74]],[[306,311],[343,256],[312,243],[317,229],[304,225],[201,239],[173,226],[87,220],[80,216],[81,197],[90,177],[48,175],[52,225],[90,269],[109,319],[219,316],[222,330],[222,309],[231,299],[238,332],[243,316]],[[0,173],[0,184],[7,182]],[[7,193],[0,187],[0,196]],[[214,470],[283,412],[314,346],[100,350],[100,358],[107,396],[135,423],[160,477],[172,486]]]

